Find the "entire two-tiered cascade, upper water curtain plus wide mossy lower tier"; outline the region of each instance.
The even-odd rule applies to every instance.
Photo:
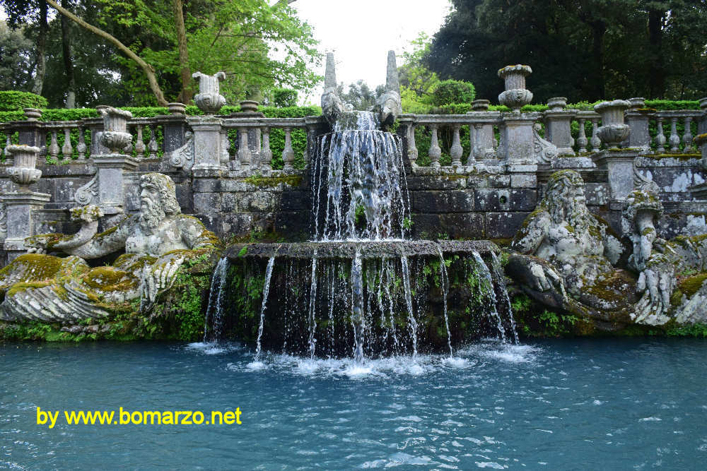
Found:
[[[496,246],[409,240],[401,148],[370,112],[317,139],[312,242],[233,246],[212,281],[212,338],[254,340],[258,369],[265,350],[363,364],[446,349],[453,361],[455,342],[518,341]]]

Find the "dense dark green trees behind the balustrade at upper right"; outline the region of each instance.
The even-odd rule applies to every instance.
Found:
[[[496,71],[529,64],[539,102],[699,98],[707,90],[704,1],[452,0],[425,62],[440,78],[503,91]]]

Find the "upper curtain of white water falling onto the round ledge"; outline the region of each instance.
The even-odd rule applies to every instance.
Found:
[[[315,239],[402,239],[409,194],[399,137],[378,131],[371,112],[346,112],[317,149],[312,164]]]

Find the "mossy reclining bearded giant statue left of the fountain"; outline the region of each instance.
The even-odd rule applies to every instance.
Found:
[[[90,205],[71,212],[82,222],[76,234],[27,239],[29,253],[0,270],[0,320],[76,323],[137,302],[146,311],[173,284],[182,263],[218,244],[201,221],[181,213],[170,177],[144,174],[140,189],[140,212],[105,232],[97,234],[102,213]],[[121,251],[112,266],[86,262]]]

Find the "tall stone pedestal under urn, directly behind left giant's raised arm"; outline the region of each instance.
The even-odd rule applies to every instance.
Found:
[[[105,215],[123,213],[125,208],[124,172],[134,172],[138,160],[122,154],[93,157],[98,176],[98,204]]]

